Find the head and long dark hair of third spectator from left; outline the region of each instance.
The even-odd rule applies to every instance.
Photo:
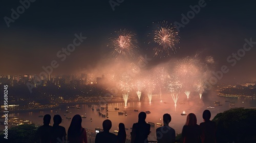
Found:
[[[75,137],[80,135],[81,128],[82,128],[82,118],[80,115],[76,114],[74,115],[70,123],[68,136]]]

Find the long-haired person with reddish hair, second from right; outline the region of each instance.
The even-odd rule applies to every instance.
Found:
[[[200,142],[200,127],[197,125],[197,117],[194,113],[187,115],[186,124],[182,129],[183,142]]]

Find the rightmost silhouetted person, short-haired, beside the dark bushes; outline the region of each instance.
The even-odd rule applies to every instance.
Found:
[[[205,142],[215,143],[216,142],[216,123],[210,121],[210,116],[211,116],[210,111],[204,110],[204,112],[203,112],[204,122],[200,123],[202,143],[205,143]]]

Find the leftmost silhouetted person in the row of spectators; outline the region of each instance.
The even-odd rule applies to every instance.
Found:
[[[37,134],[39,136],[40,143],[48,143],[51,142],[52,126],[49,125],[51,121],[51,115],[46,114],[43,120],[44,125],[38,128]]]

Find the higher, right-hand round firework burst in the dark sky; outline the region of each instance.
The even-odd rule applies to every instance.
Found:
[[[153,35],[154,40],[148,42],[148,44],[152,43],[154,46],[154,56],[160,56],[161,58],[163,54],[167,55],[167,57],[175,54],[176,44],[179,43],[176,27],[172,23],[168,24],[167,21],[158,22],[157,25],[158,28],[149,34],[149,36]]]

